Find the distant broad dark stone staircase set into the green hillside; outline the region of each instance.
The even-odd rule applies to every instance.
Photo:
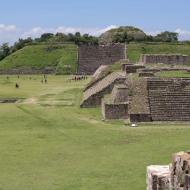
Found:
[[[99,66],[125,59],[125,45],[81,45],[78,49],[78,74],[93,74]]]

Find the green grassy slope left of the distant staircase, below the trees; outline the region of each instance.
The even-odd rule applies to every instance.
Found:
[[[59,74],[76,71],[77,46],[74,44],[30,45],[16,51],[0,62],[0,69],[54,68]]]

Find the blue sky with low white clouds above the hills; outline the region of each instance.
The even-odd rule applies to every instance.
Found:
[[[0,0],[0,43],[44,32],[100,35],[132,25],[155,35],[169,30],[190,40],[189,0]]]

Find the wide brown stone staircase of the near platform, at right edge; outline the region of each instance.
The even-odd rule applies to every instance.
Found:
[[[153,121],[190,121],[190,79],[149,78],[147,85]]]

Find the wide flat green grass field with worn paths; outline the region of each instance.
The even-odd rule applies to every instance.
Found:
[[[189,124],[104,122],[79,108],[87,81],[41,79],[0,76],[0,99],[22,99],[0,104],[1,190],[143,190],[147,165],[189,150]]]

